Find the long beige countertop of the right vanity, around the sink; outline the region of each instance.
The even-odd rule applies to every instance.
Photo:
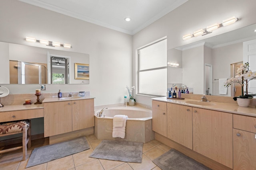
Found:
[[[167,99],[166,97],[160,97],[160,98],[152,98],[152,100],[256,117],[256,107],[255,106],[240,107],[237,104],[222,103],[222,102],[211,102],[214,105],[202,106],[202,105],[188,104],[186,102],[199,101],[199,100],[186,99],[186,98],[184,100],[180,100],[180,99]]]

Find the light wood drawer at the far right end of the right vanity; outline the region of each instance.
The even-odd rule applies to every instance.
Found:
[[[256,117],[233,114],[233,127],[236,129],[256,133]]]

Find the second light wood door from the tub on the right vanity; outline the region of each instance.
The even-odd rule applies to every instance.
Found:
[[[167,104],[167,137],[192,149],[192,107]]]

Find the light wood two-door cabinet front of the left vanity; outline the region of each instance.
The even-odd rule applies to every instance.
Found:
[[[94,99],[44,103],[44,137],[94,126]]]

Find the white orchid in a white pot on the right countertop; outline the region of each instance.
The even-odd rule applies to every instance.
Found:
[[[252,72],[249,70],[249,63],[241,64],[240,67],[237,68],[237,73],[234,78],[230,78],[227,80],[225,87],[229,87],[233,83],[239,83],[242,86],[242,95],[238,97],[234,97],[233,99],[237,101],[238,106],[248,107],[250,104],[250,100],[252,95],[248,94],[248,82],[250,80],[256,79],[256,72]],[[244,94],[244,85],[245,85],[245,94]],[[243,100],[247,99],[247,100]]]

